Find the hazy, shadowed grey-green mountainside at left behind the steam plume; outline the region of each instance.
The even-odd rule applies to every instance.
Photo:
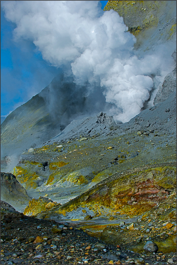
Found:
[[[16,108],[1,124],[2,156],[43,144],[61,132],[73,119],[96,115],[106,109],[101,88],[86,97],[86,87],[77,86],[70,77],[56,76],[27,103]]]

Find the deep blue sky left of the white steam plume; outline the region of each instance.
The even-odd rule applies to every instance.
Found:
[[[102,9],[107,1],[100,1]],[[58,70],[42,59],[32,42],[13,40],[15,24],[1,10],[1,118],[47,86]]]

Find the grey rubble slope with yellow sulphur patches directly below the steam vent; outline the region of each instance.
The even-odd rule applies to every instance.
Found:
[[[56,200],[77,196],[122,168],[175,162],[176,97],[171,95],[124,124],[116,125],[103,113],[73,121],[30,151],[13,174],[30,196],[38,191]]]

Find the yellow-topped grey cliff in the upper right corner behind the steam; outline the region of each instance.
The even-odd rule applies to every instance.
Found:
[[[110,9],[123,17],[135,35],[135,48],[146,50],[176,39],[175,1],[107,1],[104,10]]]

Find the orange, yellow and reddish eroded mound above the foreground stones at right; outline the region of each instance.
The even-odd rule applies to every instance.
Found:
[[[119,173],[56,208],[55,213],[74,214],[77,208],[79,211],[87,207],[95,217],[118,213],[136,216],[166,200],[175,187],[175,167],[149,168],[130,175]]]

